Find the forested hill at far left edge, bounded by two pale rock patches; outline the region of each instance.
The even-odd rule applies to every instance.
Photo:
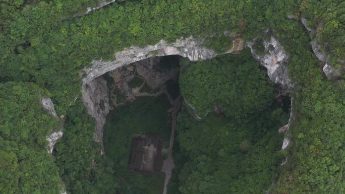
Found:
[[[0,84],[0,193],[56,193],[64,188],[45,140],[61,122],[41,107],[47,90],[33,83]]]

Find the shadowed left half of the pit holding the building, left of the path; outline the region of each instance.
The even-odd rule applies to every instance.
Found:
[[[163,192],[182,103],[180,58],[150,57],[102,76],[112,108],[104,125],[104,153],[121,179],[121,193]]]

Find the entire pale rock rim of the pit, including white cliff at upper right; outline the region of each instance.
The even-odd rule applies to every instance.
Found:
[[[233,47],[221,54],[240,52],[244,48],[244,40],[240,37],[232,36]],[[248,42],[247,46],[251,48],[253,57],[267,69],[268,77],[276,84],[281,84],[286,88],[292,88],[290,78],[287,76],[287,60],[289,57],[283,50],[280,43],[271,37],[269,41],[264,41],[265,54],[258,55],[252,48],[253,42]],[[273,46],[274,49],[269,49]],[[132,46],[123,51],[116,52],[116,59],[111,61],[94,60],[90,68],[84,69],[86,76],[83,78],[82,98],[89,113],[96,119],[95,139],[102,144],[103,125],[105,118],[111,106],[108,104],[108,89],[106,81],[101,75],[126,66],[127,64],[140,61],[153,56],[180,55],[188,57],[191,61],[206,60],[218,55],[215,51],[206,48],[202,40],[197,40],[192,36],[188,38],[177,39],[173,43],[167,43],[161,40],[155,45],[145,47]],[[104,106],[100,108],[100,102]],[[102,103],[103,104],[103,103]],[[103,153],[103,151],[101,151]]]

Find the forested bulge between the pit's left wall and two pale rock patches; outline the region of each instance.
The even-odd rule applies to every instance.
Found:
[[[114,193],[117,183],[113,170],[99,154],[94,140],[94,119],[78,99],[65,119],[63,138],[55,145],[53,155],[68,193]]]

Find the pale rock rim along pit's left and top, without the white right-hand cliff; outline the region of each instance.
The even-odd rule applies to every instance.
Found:
[[[233,47],[225,53],[239,52],[244,47],[241,38],[233,37]],[[96,119],[96,136],[98,142],[102,142],[102,130],[105,124],[105,117],[111,109],[108,102],[106,81],[100,76],[126,66],[136,61],[140,61],[153,56],[180,55],[188,57],[191,61],[206,60],[217,56],[217,53],[203,46],[202,41],[198,41],[192,36],[177,39],[174,43],[167,43],[161,40],[155,45],[145,47],[132,46],[114,54],[115,60],[102,61],[95,60],[90,68],[84,69],[86,76],[83,78],[83,102],[89,113]],[[100,101],[104,102],[104,108],[99,107]]]

